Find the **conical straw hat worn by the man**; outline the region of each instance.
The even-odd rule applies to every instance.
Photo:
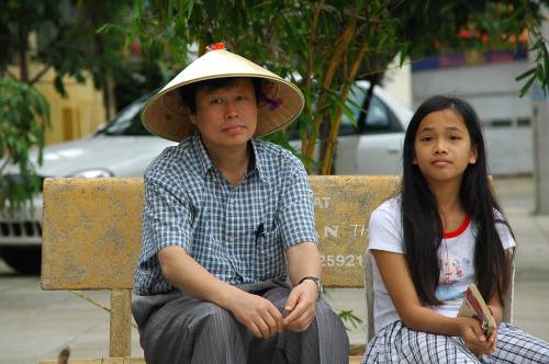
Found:
[[[194,129],[190,110],[176,89],[224,77],[262,79],[256,136],[273,133],[294,121],[303,110],[300,89],[253,61],[224,48],[209,50],[166,84],[142,111],[143,125],[163,138],[180,141]]]

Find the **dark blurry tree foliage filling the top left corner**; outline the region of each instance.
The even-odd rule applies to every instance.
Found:
[[[96,31],[104,23],[120,19],[127,4],[120,1],[78,1],[74,4],[57,0],[0,1],[0,76],[10,65],[25,67],[26,61],[42,65],[44,70],[55,69],[55,88],[65,95],[63,79],[74,77],[86,80],[90,71],[96,87],[101,87],[105,69],[123,70],[122,47],[124,34],[111,32],[109,36]],[[29,36],[36,36],[35,44]],[[44,75],[24,76],[29,70],[20,69],[18,78],[31,84]]]

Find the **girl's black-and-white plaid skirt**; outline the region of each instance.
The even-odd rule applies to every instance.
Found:
[[[460,337],[410,330],[402,321],[381,329],[370,341],[361,364],[369,363],[549,363],[549,344],[502,322],[496,350],[481,359]]]

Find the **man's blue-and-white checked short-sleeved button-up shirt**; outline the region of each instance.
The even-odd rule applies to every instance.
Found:
[[[215,168],[198,133],[147,168],[138,295],[172,288],[156,255],[166,247],[181,247],[210,273],[238,285],[284,280],[284,251],[317,241],[301,161],[270,143],[253,139],[251,146],[251,168],[238,185]]]

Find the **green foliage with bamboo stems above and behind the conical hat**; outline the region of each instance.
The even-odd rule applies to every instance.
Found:
[[[217,1],[135,0],[127,42],[139,39],[144,54],[172,69],[183,68],[224,41],[229,50],[292,79],[306,105],[293,127],[302,138],[301,157],[309,170],[329,172],[337,129],[350,83],[382,79],[400,55],[418,58],[442,52],[514,49],[525,32],[540,36],[541,4],[548,0],[474,1]],[[547,45],[530,39],[538,52],[531,79],[549,88]],[[357,69],[354,69],[357,66]],[[274,137],[281,145],[283,134]],[[315,148],[320,159],[312,162]]]

